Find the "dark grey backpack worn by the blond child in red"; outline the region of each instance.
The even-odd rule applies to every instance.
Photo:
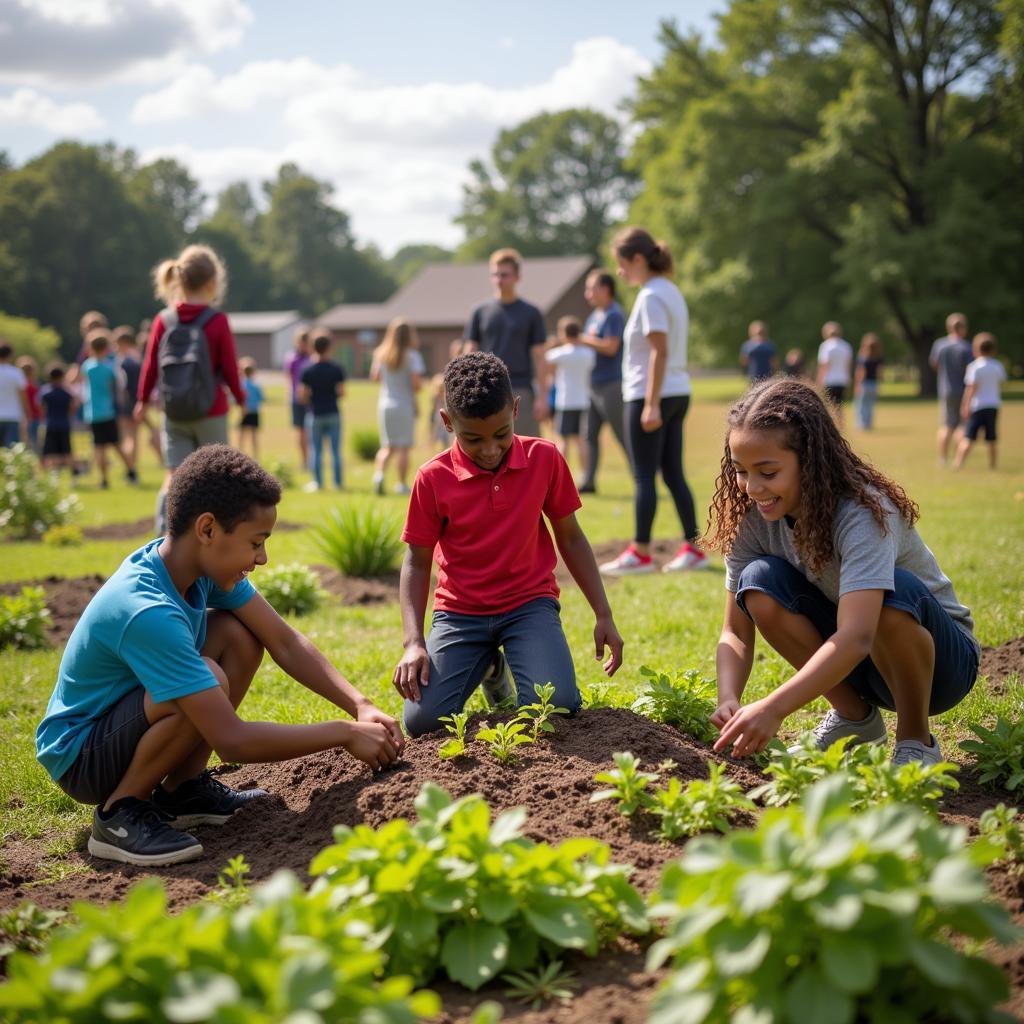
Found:
[[[190,324],[182,324],[176,309],[160,314],[164,335],[158,387],[169,420],[202,420],[217,397],[218,381],[204,330],[216,314],[213,306],[207,306]]]

